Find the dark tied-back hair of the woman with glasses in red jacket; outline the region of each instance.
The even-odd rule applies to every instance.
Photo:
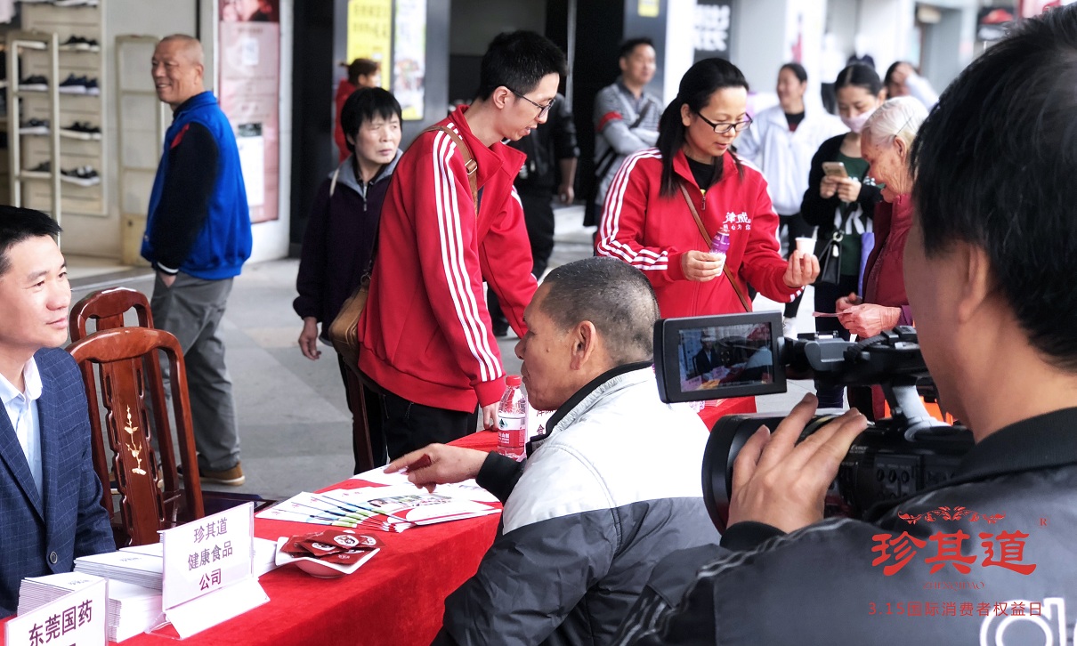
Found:
[[[673,172],[673,156],[684,145],[684,123],[681,121],[681,106],[687,104],[688,110],[696,114],[711,102],[711,96],[719,89],[726,87],[743,87],[747,89],[747,80],[736,65],[724,58],[704,58],[688,68],[688,71],[681,76],[681,85],[677,87],[676,96],[670,101],[658,120],[658,151],[662,154],[662,177],[660,195],[669,197],[676,193],[676,175]],[[732,155],[737,163],[737,172],[743,175],[743,167],[740,157],[732,151],[726,152]],[[714,178],[717,183],[722,179],[722,159],[714,158]]]

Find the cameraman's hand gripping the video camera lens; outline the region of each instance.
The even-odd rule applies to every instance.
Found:
[[[793,532],[823,519],[826,490],[867,419],[849,410],[797,444],[819,401],[808,394],[770,434],[760,427],[733,463],[729,525],[755,521]]]

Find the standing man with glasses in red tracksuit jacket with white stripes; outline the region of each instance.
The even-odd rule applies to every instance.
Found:
[[[482,57],[479,88],[401,157],[381,211],[369,298],[359,320],[360,369],[382,391],[389,458],[496,423],[505,390],[482,298],[486,279],[522,338],[535,291],[523,210],[513,188],[524,155],[501,143],[546,121],[564,54],[537,33],[503,33]]]

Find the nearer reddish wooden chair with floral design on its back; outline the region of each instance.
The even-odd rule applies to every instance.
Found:
[[[179,341],[163,329],[149,327],[118,327],[100,329],[68,347],[68,352],[79,363],[89,403],[90,427],[96,430],[94,462],[104,462],[100,430],[109,439],[113,451],[120,515],[130,545],[144,545],[158,540],[157,531],[201,518],[201,484],[198,481],[198,462],[195,455],[194,432],[191,425],[191,404],[187,399],[186,370]],[[176,453],[168,424],[165,389],[159,378],[157,354],[163,352],[168,361],[171,403],[179,440],[179,457],[183,464],[181,476],[176,468]],[[100,370],[101,388],[98,395],[95,366]],[[157,366],[157,378],[148,379],[148,366]],[[149,423],[146,395],[152,402],[153,426]],[[103,419],[100,410],[104,410]],[[160,421],[164,420],[164,423]],[[151,446],[151,429],[157,433],[162,452],[158,474],[157,460]],[[101,475],[98,467],[98,474]],[[108,469],[102,480],[109,481]],[[102,504],[113,517],[116,508],[112,494],[106,488]]]

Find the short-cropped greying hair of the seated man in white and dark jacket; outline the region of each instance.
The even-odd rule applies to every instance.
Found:
[[[543,314],[561,329],[590,321],[618,365],[654,359],[658,300],[643,272],[624,261],[589,257],[550,271]]]

